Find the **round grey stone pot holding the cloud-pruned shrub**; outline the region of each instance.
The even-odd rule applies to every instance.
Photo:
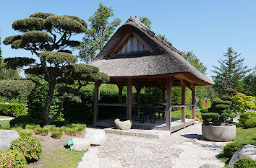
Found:
[[[202,136],[210,141],[231,141],[236,137],[236,125],[223,124],[215,126],[202,124]]]

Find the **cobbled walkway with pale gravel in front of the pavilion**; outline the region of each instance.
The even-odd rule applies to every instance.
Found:
[[[224,164],[216,158],[226,143],[202,138],[201,124],[191,125],[167,138],[139,138],[106,134],[103,146],[92,146],[79,168],[172,167],[197,168]]]

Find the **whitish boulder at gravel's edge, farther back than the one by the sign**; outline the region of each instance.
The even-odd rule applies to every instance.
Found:
[[[106,133],[98,129],[86,129],[85,138],[90,140],[91,145],[103,145],[106,141]]]

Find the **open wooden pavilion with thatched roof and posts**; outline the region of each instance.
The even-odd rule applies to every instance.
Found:
[[[192,90],[193,103],[190,106],[193,107],[192,116],[195,118],[195,86],[213,84],[182,57],[180,50],[135,17],[130,17],[119,27],[90,65],[97,66],[100,71],[108,74],[109,83],[117,84],[119,90],[127,86],[127,118],[132,116],[132,85],[136,87],[138,94],[142,87],[160,87],[164,93],[163,98],[167,89],[167,129],[171,129],[171,87],[182,87],[183,106],[184,88]],[[95,84],[95,125],[98,120],[98,87],[99,84]],[[183,121],[184,116],[182,107]]]

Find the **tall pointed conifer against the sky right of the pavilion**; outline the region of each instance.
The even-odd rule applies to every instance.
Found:
[[[239,58],[240,56],[241,53],[230,47],[227,53],[224,53],[223,59],[218,60],[219,66],[213,66],[214,88],[219,94],[223,95],[224,90],[228,88],[241,92],[242,79],[250,70],[244,66],[244,58]]]

